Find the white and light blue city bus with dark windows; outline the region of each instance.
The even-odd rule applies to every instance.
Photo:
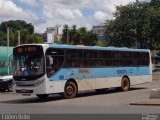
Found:
[[[47,98],[60,93],[130,86],[152,81],[150,50],[98,46],[31,44],[17,46],[14,92]]]

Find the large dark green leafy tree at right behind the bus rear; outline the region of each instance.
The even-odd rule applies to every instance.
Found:
[[[136,1],[117,6],[114,20],[106,21],[109,45],[159,49],[160,1]]]

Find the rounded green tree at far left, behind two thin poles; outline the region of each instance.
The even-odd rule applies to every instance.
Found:
[[[0,24],[0,45],[7,44],[7,27],[9,27],[10,46],[18,44],[18,31],[20,31],[21,44],[42,43],[42,38],[34,33],[34,26],[22,20],[10,20]]]

